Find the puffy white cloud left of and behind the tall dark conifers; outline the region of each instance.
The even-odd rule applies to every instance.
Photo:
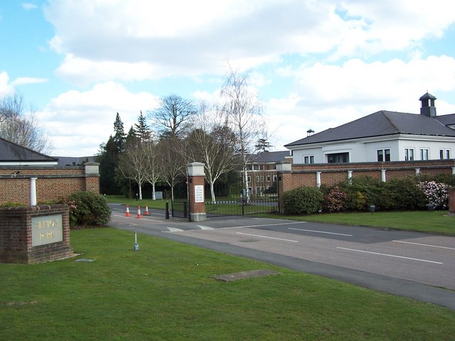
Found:
[[[145,114],[156,103],[152,94],[132,93],[123,85],[105,82],[85,92],[71,90],[60,94],[37,112],[37,117],[51,136],[53,155],[90,156],[114,134],[117,112],[127,133],[137,122],[140,111]]]

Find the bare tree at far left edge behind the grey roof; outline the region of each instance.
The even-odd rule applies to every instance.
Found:
[[[0,137],[40,153],[50,153],[52,146],[35,118],[31,107],[24,114],[23,99],[18,94],[0,100]]]

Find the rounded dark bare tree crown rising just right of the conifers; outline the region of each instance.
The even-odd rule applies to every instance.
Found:
[[[188,129],[195,112],[193,103],[176,94],[161,97],[159,107],[149,112],[151,120],[161,136],[180,138]]]

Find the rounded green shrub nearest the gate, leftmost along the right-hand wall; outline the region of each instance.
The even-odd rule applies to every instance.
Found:
[[[284,213],[311,215],[322,210],[324,196],[319,188],[300,187],[283,194]]]

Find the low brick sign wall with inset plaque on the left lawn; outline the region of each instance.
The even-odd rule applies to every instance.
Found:
[[[73,256],[67,205],[0,209],[0,262],[36,264]]]

